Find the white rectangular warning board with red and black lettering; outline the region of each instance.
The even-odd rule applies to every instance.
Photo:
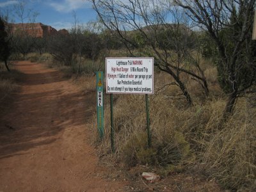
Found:
[[[154,58],[106,58],[107,93],[154,93]]]

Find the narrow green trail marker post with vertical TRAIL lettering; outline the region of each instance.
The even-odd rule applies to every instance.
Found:
[[[97,127],[100,140],[104,135],[104,111],[103,111],[103,73],[97,72]]]

